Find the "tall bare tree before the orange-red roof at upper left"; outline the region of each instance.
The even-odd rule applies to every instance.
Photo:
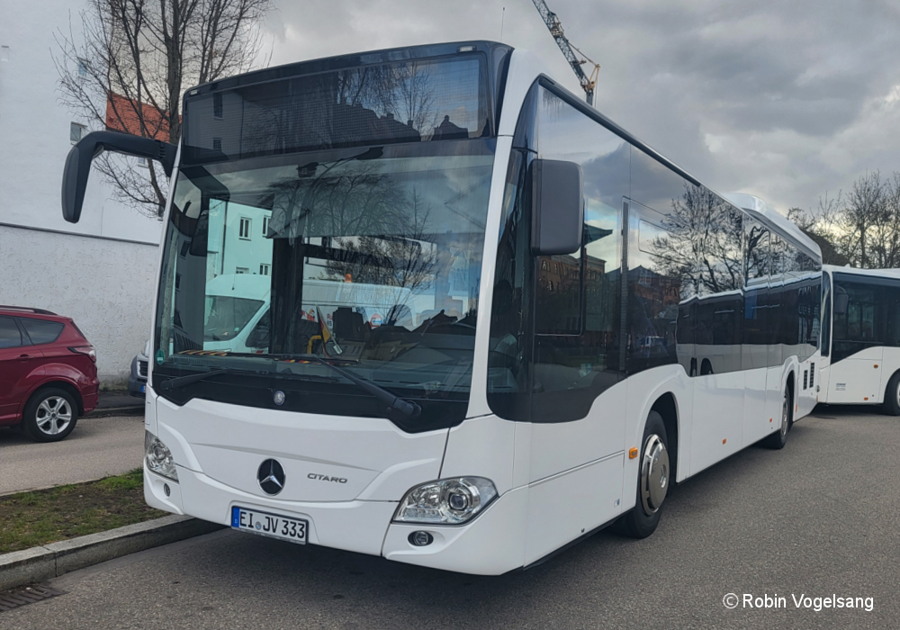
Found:
[[[76,37],[58,34],[62,101],[91,130],[177,142],[186,87],[247,71],[261,49],[257,25],[271,0],[88,0]],[[94,160],[116,199],[157,216],[166,179],[150,162]]]

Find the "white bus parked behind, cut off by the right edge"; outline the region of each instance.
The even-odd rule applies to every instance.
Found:
[[[900,416],[900,269],[824,266],[819,402]]]

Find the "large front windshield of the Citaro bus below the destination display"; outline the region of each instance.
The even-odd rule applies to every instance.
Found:
[[[155,376],[234,365],[260,374],[266,390],[266,374],[328,376],[340,382],[336,394],[352,385],[298,359],[313,354],[406,396],[467,397],[494,145],[459,139],[182,168]],[[178,395],[218,400],[215,390],[197,381]]]

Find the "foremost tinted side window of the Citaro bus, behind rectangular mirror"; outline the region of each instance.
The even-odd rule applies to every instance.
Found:
[[[620,378],[620,217],[630,145],[543,88],[533,88],[527,103],[500,227],[488,401],[501,418],[581,419]],[[572,255],[531,254],[527,163],[536,156],[527,148],[581,165],[584,229]]]

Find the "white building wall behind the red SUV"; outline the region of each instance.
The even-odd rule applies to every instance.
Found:
[[[144,345],[161,223],[112,201],[96,171],[81,222],[59,193],[71,122],[60,103],[54,39],[75,35],[84,0],[4,2],[0,21],[0,304],[72,317],[98,355],[104,385],[123,383]],[[52,231],[46,231],[52,230]],[[82,236],[83,235],[83,236]]]

